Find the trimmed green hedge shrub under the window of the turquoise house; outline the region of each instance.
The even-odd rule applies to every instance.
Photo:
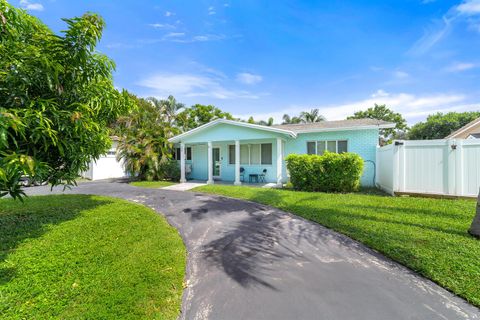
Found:
[[[295,190],[351,192],[360,187],[363,159],[356,153],[291,154],[285,160]]]

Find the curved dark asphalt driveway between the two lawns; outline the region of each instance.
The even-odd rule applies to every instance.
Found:
[[[65,193],[124,198],[166,216],[189,253],[184,319],[480,319],[477,308],[431,281],[281,210],[118,182]]]

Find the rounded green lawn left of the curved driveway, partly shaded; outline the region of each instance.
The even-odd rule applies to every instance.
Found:
[[[177,231],[142,205],[0,200],[2,319],[175,319],[185,258]]]

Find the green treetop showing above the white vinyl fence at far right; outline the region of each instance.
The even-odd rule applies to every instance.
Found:
[[[408,139],[443,139],[478,117],[480,117],[479,111],[448,112],[445,114],[438,112],[429,115],[425,122],[415,124],[408,132]]]

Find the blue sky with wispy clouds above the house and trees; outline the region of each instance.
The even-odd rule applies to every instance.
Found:
[[[344,119],[386,103],[410,124],[480,109],[480,0],[22,0],[54,31],[99,13],[115,84],[236,116],[319,108]]]

